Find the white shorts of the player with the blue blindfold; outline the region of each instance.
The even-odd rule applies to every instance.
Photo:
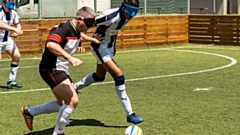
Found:
[[[91,47],[91,51],[97,59],[97,63],[103,64],[109,60],[112,60],[114,47],[108,48],[108,45],[100,45],[99,48]]]

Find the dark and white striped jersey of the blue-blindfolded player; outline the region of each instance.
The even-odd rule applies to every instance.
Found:
[[[128,20],[122,17],[121,10],[121,7],[110,9],[95,18],[97,28],[94,33],[104,37],[104,44],[101,45],[106,45],[108,48],[115,46],[118,32],[128,23]],[[91,46],[96,47],[97,45],[91,43]]]

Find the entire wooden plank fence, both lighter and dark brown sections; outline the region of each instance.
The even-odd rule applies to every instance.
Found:
[[[49,30],[66,20],[21,21],[24,34],[14,39],[21,54],[41,54]],[[92,36],[94,30],[89,29],[87,35]],[[188,42],[240,45],[240,16],[138,16],[119,32],[116,45],[117,48],[129,48]],[[89,49],[89,42],[82,45]]]

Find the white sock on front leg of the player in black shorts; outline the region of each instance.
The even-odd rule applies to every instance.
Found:
[[[57,122],[53,131],[53,135],[62,134],[64,132],[64,128],[66,127],[68,120],[73,113],[74,108],[64,104],[59,109]]]

